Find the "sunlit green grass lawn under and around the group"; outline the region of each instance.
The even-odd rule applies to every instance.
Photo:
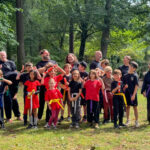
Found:
[[[23,112],[22,91],[18,99]],[[81,124],[80,129],[69,129],[69,123],[63,122],[57,130],[45,130],[45,116],[39,122],[38,130],[26,130],[23,122],[13,121],[6,124],[6,130],[0,130],[0,150],[149,150],[150,126],[146,121],[146,99],[138,94],[139,128],[134,128],[133,109],[128,128],[114,129],[113,124],[100,125],[100,129],[89,128]],[[101,121],[103,115],[100,115]],[[15,118],[13,118],[15,119]],[[126,118],[124,118],[124,122]]]

